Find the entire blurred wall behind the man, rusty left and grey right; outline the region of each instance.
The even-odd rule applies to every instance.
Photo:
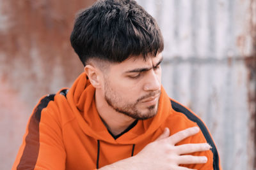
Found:
[[[0,0],[0,169],[33,108],[83,71],[69,36],[93,0]],[[138,0],[164,36],[163,85],[211,131],[223,170],[256,169],[256,1]]]

